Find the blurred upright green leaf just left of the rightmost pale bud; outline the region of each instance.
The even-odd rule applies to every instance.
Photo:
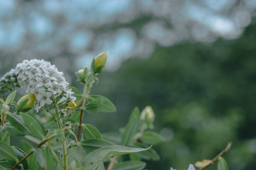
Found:
[[[129,122],[125,127],[125,131],[122,134],[122,145],[128,146],[134,140],[135,134],[139,132],[140,119],[139,119],[139,109],[136,107],[129,118]]]

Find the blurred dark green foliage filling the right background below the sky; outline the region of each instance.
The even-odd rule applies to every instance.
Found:
[[[151,105],[155,131],[166,144],[151,170],[186,169],[212,159],[229,141],[231,170],[256,167],[256,21],[237,40],[157,46],[149,58],[132,58],[102,73],[92,93],[108,96],[117,113],[93,117],[101,131],[122,127],[134,106]],[[118,89],[118,90],[117,90]],[[107,120],[107,121],[102,121]],[[119,121],[117,121],[119,120]],[[208,168],[216,170],[217,163]]]

